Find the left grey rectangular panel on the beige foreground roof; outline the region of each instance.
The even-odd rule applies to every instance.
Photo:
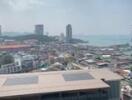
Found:
[[[12,86],[12,85],[28,85],[28,84],[37,84],[38,76],[24,76],[24,77],[13,77],[7,78],[4,85]]]

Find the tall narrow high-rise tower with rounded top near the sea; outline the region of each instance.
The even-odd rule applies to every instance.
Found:
[[[70,43],[72,41],[72,26],[68,24],[66,26],[66,42]]]

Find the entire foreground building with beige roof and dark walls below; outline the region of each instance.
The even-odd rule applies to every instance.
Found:
[[[120,100],[121,79],[106,69],[0,75],[0,100]]]

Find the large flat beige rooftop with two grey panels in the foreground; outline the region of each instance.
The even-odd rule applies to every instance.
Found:
[[[107,69],[0,75],[0,97],[109,88],[101,79],[122,78]]]

